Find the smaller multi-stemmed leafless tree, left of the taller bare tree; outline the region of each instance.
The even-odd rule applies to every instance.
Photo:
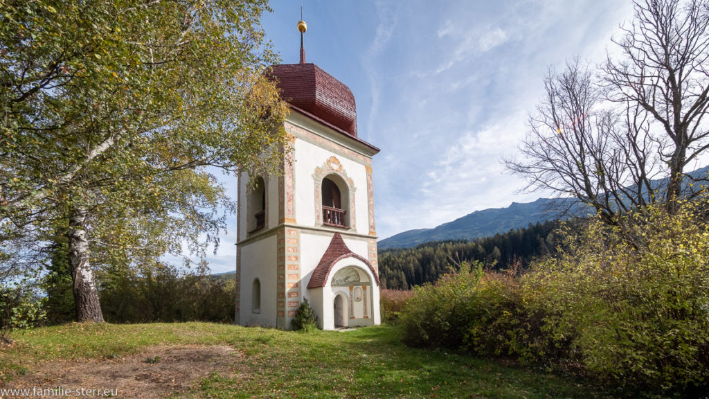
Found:
[[[550,69],[520,146],[524,159],[506,164],[527,177],[528,188],[571,195],[613,222],[617,212],[654,201],[647,167],[657,146],[645,136],[642,114],[626,109],[623,118],[602,96],[578,59],[564,72]]]

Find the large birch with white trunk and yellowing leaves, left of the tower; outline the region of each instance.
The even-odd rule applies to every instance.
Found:
[[[135,266],[223,227],[233,204],[207,166],[277,168],[286,107],[262,75],[264,11],[0,1],[2,245],[65,229],[79,321],[103,320],[92,261]]]

